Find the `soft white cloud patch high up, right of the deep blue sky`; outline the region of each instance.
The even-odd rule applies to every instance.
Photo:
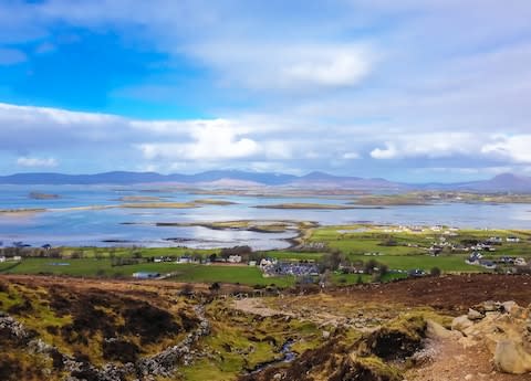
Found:
[[[195,45],[190,54],[216,67],[226,85],[273,91],[355,86],[376,61],[367,44],[223,42]]]

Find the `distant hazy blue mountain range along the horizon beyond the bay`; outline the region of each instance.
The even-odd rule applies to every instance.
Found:
[[[454,183],[405,183],[381,178],[334,176],[325,172],[311,172],[294,176],[272,172],[246,172],[238,170],[216,170],[196,174],[157,172],[114,171],[96,174],[64,174],[51,172],[15,173],[0,176],[0,184],[146,184],[171,183],[218,188],[249,187],[294,187],[336,188],[354,190],[454,190],[473,192],[531,192],[531,177],[503,173],[488,180]]]

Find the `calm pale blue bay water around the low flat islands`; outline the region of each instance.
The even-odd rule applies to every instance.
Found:
[[[34,200],[29,193],[59,194],[59,199]],[[233,205],[204,205],[197,209],[106,209],[69,210],[69,208],[119,204],[125,195],[153,195],[164,201],[187,202],[197,199],[233,201]],[[337,198],[251,198],[191,194],[188,192],[148,193],[138,189],[111,187],[21,187],[0,186],[0,209],[43,208],[42,213],[0,214],[0,241],[4,245],[22,241],[31,245],[142,245],[225,247],[249,244],[256,250],[282,248],[296,235],[219,231],[200,226],[155,226],[157,222],[211,222],[229,220],[315,221],[323,225],[353,222],[433,225],[458,227],[531,229],[530,204],[435,204],[354,210],[273,210],[254,205],[287,202],[342,204]],[[135,224],[128,224],[135,223]],[[177,239],[178,241],[168,241]],[[111,242],[110,242],[111,241]]]

